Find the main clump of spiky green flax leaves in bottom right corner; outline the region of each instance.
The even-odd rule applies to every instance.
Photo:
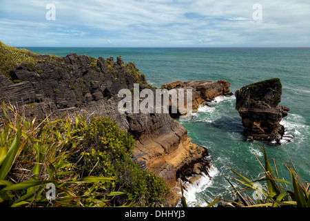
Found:
[[[309,207],[310,199],[309,199],[309,183],[301,182],[298,172],[293,166],[293,162],[291,165],[286,165],[287,170],[291,175],[291,182],[288,182],[284,179],[280,179],[278,175],[278,170],[276,167],[276,162],[274,163],[274,169],[272,169],[271,164],[269,163],[269,159],[267,157],[267,153],[265,151],[265,147],[262,146],[262,153],[264,155],[265,166],[257,160],[262,166],[263,169],[263,177],[256,181],[251,181],[244,175],[234,171],[229,168],[237,177],[232,177],[234,180],[240,183],[240,187],[242,189],[240,191],[237,190],[236,186],[234,186],[231,182],[231,186],[233,187],[236,195],[242,202],[239,206],[247,206],[247,207]],[[227,179],[227,178],[226,178]],[[228,180],[228,179],[227,179]],[[229,180],[228,180],[229,181]],[[265,189],[260,188],[258,185],[254,185],[254,183],[265,183]],[[254,188],[255,186],[255,188]],[[264,186],[264,185],[261,185]],[[242,196],[240,194],[241,191],[254,191],[259,192],[260,197],[252,200],[249,195]],[[255,202],[256,200],[256,202]]]

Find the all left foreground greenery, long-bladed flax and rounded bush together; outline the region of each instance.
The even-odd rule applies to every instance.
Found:
[[[132,162],[134,139],[96,117],[24,119],[3,104],[0,206],[156,206],[167,188]],[[45,195],[56,187],[56,199]]]

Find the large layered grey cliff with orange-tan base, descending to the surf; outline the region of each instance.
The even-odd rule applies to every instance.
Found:
[[[134,135],[134,161],[163,177],[173,190],[167,202],[175,206],[180,198],[174,189],[178,176],[185,167],[187,173],[198,167],[207,169],[203,158],[208,153],[192,144],[187,130],[169,113],[120,113],[119,90],[132,90],[137,82],[140,90],[150,88],[135,64],[124,64],[121,57],[114,61],[113,57],[40,55],[33,64],[14,66],[9,78],[0,75],[0,98],[17,106],[25,116],[85,113],[87,117],[111,117]]]

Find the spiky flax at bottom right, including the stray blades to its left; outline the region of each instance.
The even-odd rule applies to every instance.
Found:
[[[267,157],[264,144],[262,143],[262,148],[259,145],[258,147],[264,155],[264,162],[260,162],[256,155],[255,157],[262,167],[263,176],[258,180],[250,180],[245,175],[227,166],[235,176],[223,174],[223,177],[231,185],[232,193],[238,197],[238,200],[225,200],[226,194],[221,195],[219,198],[213,198],[211,202],[204,198],[207,202],[206,207],[213,207],[220,201],[229,202],[229,207],[310,207],[310,184],[301,181],[293,162],[290,160],[290,164],[285,164],[291,180],[280,179],[276,162],[273,161],[274,169],[272,169],[269,162],[271,159]],[[238,186],[234,185],[229,180],[229,177],[236,180],[239,183]],[[266,186],[266,188],[262,186]],[[187,206],[182,184],[180,187],[183,206]],[[243,195],[242,192],[244,192]]]

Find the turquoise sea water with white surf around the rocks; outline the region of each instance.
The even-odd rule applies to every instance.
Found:
[[[310,182],[310,48],[28,48],[39,54],[59,56],[75,52],[92,57],[121,55],[124,62],[134,61],[145,74],[147,82],[158,88],[169,81],[226,79],[231,91],[247,84],[280,78],[282,101],[289,106],[289,115],[282,119],[293,140],[280,146],[266,146],[267,155],[276,161],[280,177],[290,181],[283,163],[293,161],[302,181]],[[187,128],[192,142],[205,146],[212,169],[189,186],[185,197],[190,206],[203,205],[205,198],[229,192],[230,186],[221,173],[232,175],[225,165],[255,180],[262,172],[257,155],[262,153],[252,142],[244,142],[242,124],[235,110],[236,99],[218,97],[209,106],[200,108]],[[235,182],[236,183],[236,182]],[[231,199],[227,194],[226,198]]]

